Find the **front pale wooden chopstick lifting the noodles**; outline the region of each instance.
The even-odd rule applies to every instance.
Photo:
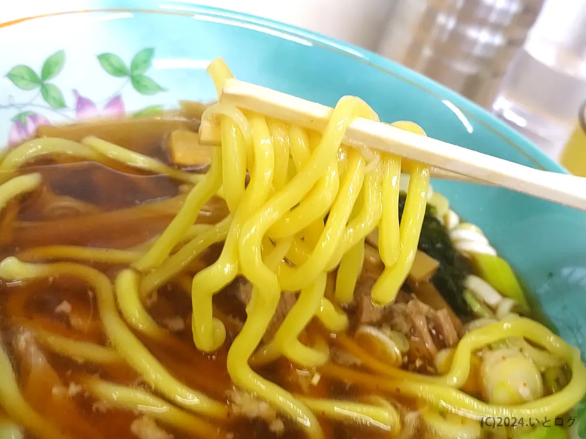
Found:
[[[333,109],[260,85],[226,80],[220,102],[322,132]],[[586,211],[586,179],[533,169],[381,122],[355,119],[344,143],[365,145],[438,169]],[[469,180],[468,180],[469,181]]]

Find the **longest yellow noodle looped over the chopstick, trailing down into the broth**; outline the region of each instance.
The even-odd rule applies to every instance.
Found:
[[[322,141],[315,148],[314,153],[312,153],[308,165],[287,183],[284,190],[275,194],[257,213],[248,219],[241,232],[239,245],[241,269],[247,279],[253,284],[253,298],[247,308],[248,318],[244,324],[244,328],[233,342],[228,354],[230,376],[233,380],[242,382],[243,386],[248,390],[254,391],[263,397],[263,399],[267,399],[276,404],[284,413],[301,421],[302,427],[308,431],[311,437],[322,437],[323,435],[316,421],[312,421],[313,415],[311,412],[304,408],[303,411],[308,418],[300,420],[298,407],[301,403],[296,402],[292,404],[292,396],[283,396],[285,390],[272,385],[272,383],[259,383],[257,377],[251,376],[252,371],[250,370],[250,366],[248,364],[242,366],[241,363],[243,359],[244,361],[247,360],[248,356],[252,354],[260,341],[264,328],[268,325],[272,313],[274,313],[277,306],[280,294],[279,280],[271,268],[263,263],[259,252],[263,236],[267,229],[292,206],[298,203],[319,179],[320,167],[323,169],[323,163],[331,163],[342,140],[344,129],[352,121],[353,116],[360,114],[361,111],[363,114],[370,114],[369,108],[363,101],[357,100],[356,98],[342,98],[340,100],[334,109],[328,129],[326,129]],[[338,228],[340,235],[342,229],[345,229],[347,217],[350,215],[356,193],[359,191],[359,187],[355,186],[362,184],[363,174],[360,173],[360,169],[362,168],[363,170],[364,167],[363,159],[358,154],[354,154],[351,160],[356,172],[348,172],[346,174],[349,176],[348,181],[344,181],[345,186],[347,186],[347,192],[342,192],[342,197],[340,198],[346,197],[346,194],[349,193],[349,197],[353,197],[354,199],[347,200],[350,203],[338,207],[338,210],[342,211],[340,214],[336,214],[336,203],[342,204],[343,201],[340,201],[340,198],[336,199],[333,212],[330,212],[328,218],[330,228]],[[354,193],[352,193],[352,188],[355,191]],[[327,238],[328,235],[324,231],[322,236]],[[326,242],[326,245],[328,244],[333,249],[336,241]],[[315,254],[315,251],[312,254]],[[325,266],[328,258],[322,259],[322,266]],[[280,275],[286,271],[284,268],[284,266],[281,266]],[[314,277],[319,275],[321,271],[322,269],[318,268]],[[312,280],[309,279],[306,282],[309,284]],[[283,285],[283,287],[285,286]],[[296,288],[292,288],[291,290],[296,290]],[[236,367],[239,363],[241,365],[240,368]]]

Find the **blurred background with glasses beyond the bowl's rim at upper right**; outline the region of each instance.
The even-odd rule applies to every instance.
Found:
[[[568,169],[567,162],[577,157],[565,152],[568,143],[568,150],[581,149],[586,160],[586,0],[193,3],[264,16],[366,47],[475,101]]]

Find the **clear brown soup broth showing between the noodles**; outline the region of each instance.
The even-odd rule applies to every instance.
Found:
[[[86,135],[96,135],[172,164],[164,148],[166,136],[172,129],[196,126],[193,121],[179,119],[101,121],[71,126],[43,126],[39,129],[39,135],[78,141]],[[42,245],[124,249],[143,243],[161,232],[171,222],[185,198],[180,185],[166,176],[152,176],[120,164],[107,164],[45,160],[32,163],[22,170],[22,173],[40,172],[43,187],[22,197],[18,203],[9,204],[0,215],[0,256],[18,255]],[[57,202],[64,203],[66,208],[52,211],[51,207]],[[223,201],[213,200],[208,212],[202,212],[198,221],[217,222],[226,214]],[[214,246],[202,258],[197,258],[190,266],[191,274],[213,263],[220,250],[221,245]],[[80,263],[100,269],[111,281],[114,281],[122,268],[121,265],[91,261]],[[332,290],[331,282],[328,286]],[[190,328],[191,300],[178,284],[170,282],[162,286],[157,297],[149,308],[155,321],[165,325],[169,318],[181,318],[185,321],[185,328],[162,340],[141,335],[139,338],[173,376],[217,400],[226,401],[226,392],[232,388],[226,369],[227,348],[223,347],[213,355],[197,351]],[[65,313],[56,311],[63,303],[69,304],[71,310]],[[242,304],[234,300],[229,289],[217,294],[214,306],[226,318],[244,318]],[[132,421],[137,418],[135,413],[118,409],[101,410],[100,404],[96,404],[96,400],[84,392],[71,395],[59,393],[59,389],[66,389],[67,392],[71,385],[75,386],[96,374],[116,383],[142,386],[141,379],[130,366],[123,363],[108,366],[79,363],[52,354],[35,341],[32,341],[32,347],[42,355],[37,358],[37,363],[30,363],[30,358],[27,360],[22,349],[15,349],[12,342],[23,328],[33,331],[40,328],[80,341],[107,344],[96,299],[86,284],[67,277],[24,284],[0,282],[0,339],[5,342],[13,359],[23,395],[42,416],[75,439],[136,439],[130,430]],[[322,337],[322,331],[323,328],[314,322],[302,334],[302,338],[311,340]],[[228,339],[233,339],[235,335],[234,332],[229,333]],[[360,387],[345,385],[325,376],[319,382],[311,383],[314,372],[299,371],[284,359],[258,372],[292,393],[329,399],[355,399],[364,395],[364,389]],[[158,424],[176,439],[190,437],[165,424]],[[381,430],[348,426],[327,419],[321,419],[321,424],[327,439],[367,435],[372,439],[389,437],[389,433]],[[264,421],[246,418],[231,420],[224,428],[230,432],[229,437],[234,439],[304,437],[287,420],[281,435],[273,433]]]

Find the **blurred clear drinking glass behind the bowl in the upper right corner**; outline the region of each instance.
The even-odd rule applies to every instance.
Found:
[[[586,0],[547,0],[492,111],[557,158],[586,100]]]

